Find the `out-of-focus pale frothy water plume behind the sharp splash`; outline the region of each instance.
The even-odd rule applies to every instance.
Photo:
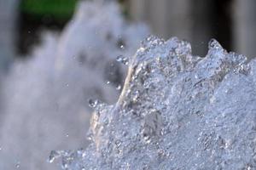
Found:
[[[54,169],[50,150],[86,146],[88,100],[116,101],[125,72],[116,57],[131,55],[147,34],[124,20],[116,3],[94,1],[79,3],[60,36],[44,35],[4,80],[0,169]]]

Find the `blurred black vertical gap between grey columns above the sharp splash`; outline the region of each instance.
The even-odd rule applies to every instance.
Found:
[[[195,0],[191,4],[192,30],[195,54],[207,53],[207,42],[216,38],[228,51],[234,51],[232,45],[232,18],[230,4],[232,0]],[[182,21],[182,20],[181,20]]]

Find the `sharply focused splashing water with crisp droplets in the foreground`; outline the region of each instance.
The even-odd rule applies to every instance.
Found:
[[[255,60],[216,40],[200,58],[176,37],[148,37],[119,101],[96,107],[89,147],[64,151],[63,169],[255,169],[255,74]]]

